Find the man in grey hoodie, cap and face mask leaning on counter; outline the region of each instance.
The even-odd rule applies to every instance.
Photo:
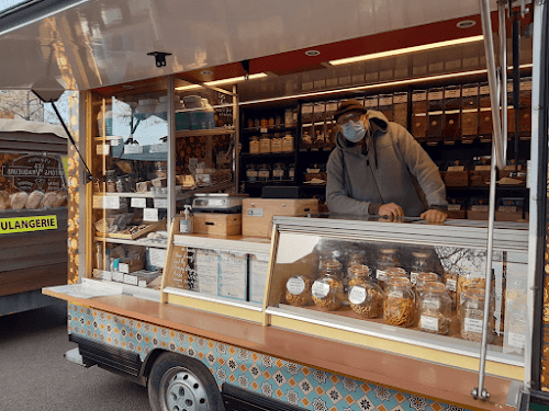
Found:
[[[339,133],[326,182],[332,213],[446,220],[438,169],[404,127],[357,100],[344,101],[334,117]]]

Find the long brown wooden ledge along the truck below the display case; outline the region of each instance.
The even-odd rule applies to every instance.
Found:
[[[463,408],[514,410],[505,406],[511,380],[501,377],[486,376],[484,386],[490,400],[479,401],[471,397],[478,374],[469,370],[127,295],[81,299],[52,289],[43,293]]]

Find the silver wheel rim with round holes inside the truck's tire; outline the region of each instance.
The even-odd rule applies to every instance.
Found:
[[[160,381],[166,411],[206,411],[208,396],[202,381],[183,367],[169,369]]]

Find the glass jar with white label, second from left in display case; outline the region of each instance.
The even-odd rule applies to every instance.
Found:
[[[341,307],[344,288],[338,261],[327,260],[323,262],[321,275],[313,283],[312,293],[315,306],[323,310],[333,311]]]

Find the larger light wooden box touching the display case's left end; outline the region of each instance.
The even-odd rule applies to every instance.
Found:
[[[316,198],[244,198],[242,233],[270,238],[273,216],[306,216],[311,213],[318,213]]]

